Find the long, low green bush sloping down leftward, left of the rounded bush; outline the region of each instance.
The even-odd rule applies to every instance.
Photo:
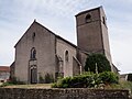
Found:
[[[66,77],[57,80],[52,87],[54,88],[91,88],[101,81],[96,74],[85,73],[82,75]]]

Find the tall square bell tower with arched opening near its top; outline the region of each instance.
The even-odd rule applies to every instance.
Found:
[[[107,18],[102,7],[76,15],[77,46],[87,53],[100,53],[111,61]]]

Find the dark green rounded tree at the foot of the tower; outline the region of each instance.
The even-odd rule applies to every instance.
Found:
[[[102,54],[90,54],[86,59],[86,72],[102,73],[110,72],[111,66],[107,57]]]

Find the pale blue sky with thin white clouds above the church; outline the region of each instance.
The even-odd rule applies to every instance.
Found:
[[[132,73],[132,0],[0,0],[0,66],[14,61],[14,45],[34,19],[76,44],[76,19],[81,11],[102,6],[110,51],[121,74]]]

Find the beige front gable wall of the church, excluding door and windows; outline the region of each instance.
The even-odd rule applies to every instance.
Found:
[[[35,32],[33,42],[32,35]],[[15,46],[15,76],[28,82],[29,61],[32,47],[36,50],[37,79],[41,75],[53,74],[55,70],[55,35],[46,29],[33,23]]]

